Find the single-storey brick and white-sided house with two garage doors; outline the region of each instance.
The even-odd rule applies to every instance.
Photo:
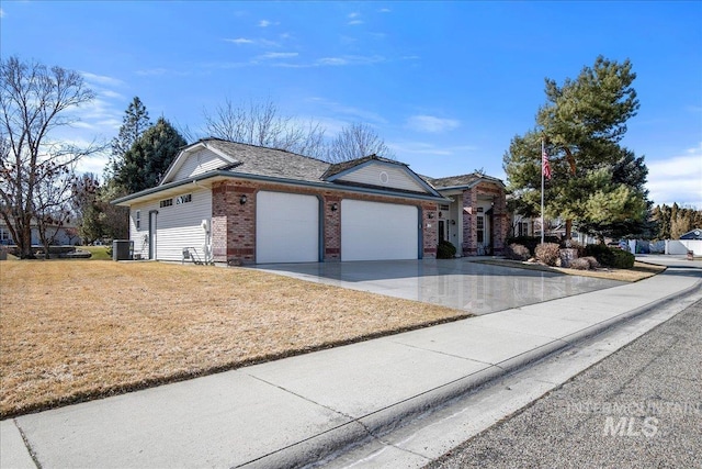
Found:
[[[433,258],[442,237],[463,254],[501,250],[502,183],[449,179],[375,155],[329,164],[206,138],[159,186],[113,203],[129,208],[134,253],[149,259],[183,260],[184,249],[229,264]]]

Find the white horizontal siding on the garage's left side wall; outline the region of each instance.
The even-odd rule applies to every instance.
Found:
[[[141,258],[148,258],[149,212],[158,211],[156,231],[156,258],[157,260],[181,260],[184,247],[194,247],[199,256],[203,257],[205,232],[202,228],[203,220],[212,219],[212,191],[210,189],[196,189],[183,194],[192,194],[192,201],[171,206],[160,208],[160,201],[133,205],[129,212],[129,234],[134,241],[134,253]],[[173,196],[173,201],[178,196]],[[170,199],[170,197],[169,197]],[[141,211],[141,226],[136,230],[136,211]]]

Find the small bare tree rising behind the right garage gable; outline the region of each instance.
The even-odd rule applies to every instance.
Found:
[[[394,159],[395,154],[369,124],[351,124],[343,127],[329,144],[325,159],[329,163],[348,161],[377,155]]]

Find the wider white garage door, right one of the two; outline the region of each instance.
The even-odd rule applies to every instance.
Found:
[[[417,259],[419,216],[412,205],[341,201],[341,260]]]

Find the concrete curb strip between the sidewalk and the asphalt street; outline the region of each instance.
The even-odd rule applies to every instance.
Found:
[[[408,421],[431,413],[433,410],[442,407],[451,401],[461,399],[490,381],[524,369],[536,361],[541,361],[556,353],[573,347],[579,342],[603,333],[612,326],[646,314],[654,309],[671,303],[697,290],[702,290],[702,280],[698,280],[692,287],[653,301],[644,306],[626,311],[559,339],[554,339],[545,345],[508,358],[499,364],[488,365],[479,371],[430,389],[380,411],[354,418],[327,432],[237,467],[248,469],[318,466],[322,464],[324,460],[333,458],[335,455],[346,453],[356,446],[381,438],[383,435],[405,425]]]

